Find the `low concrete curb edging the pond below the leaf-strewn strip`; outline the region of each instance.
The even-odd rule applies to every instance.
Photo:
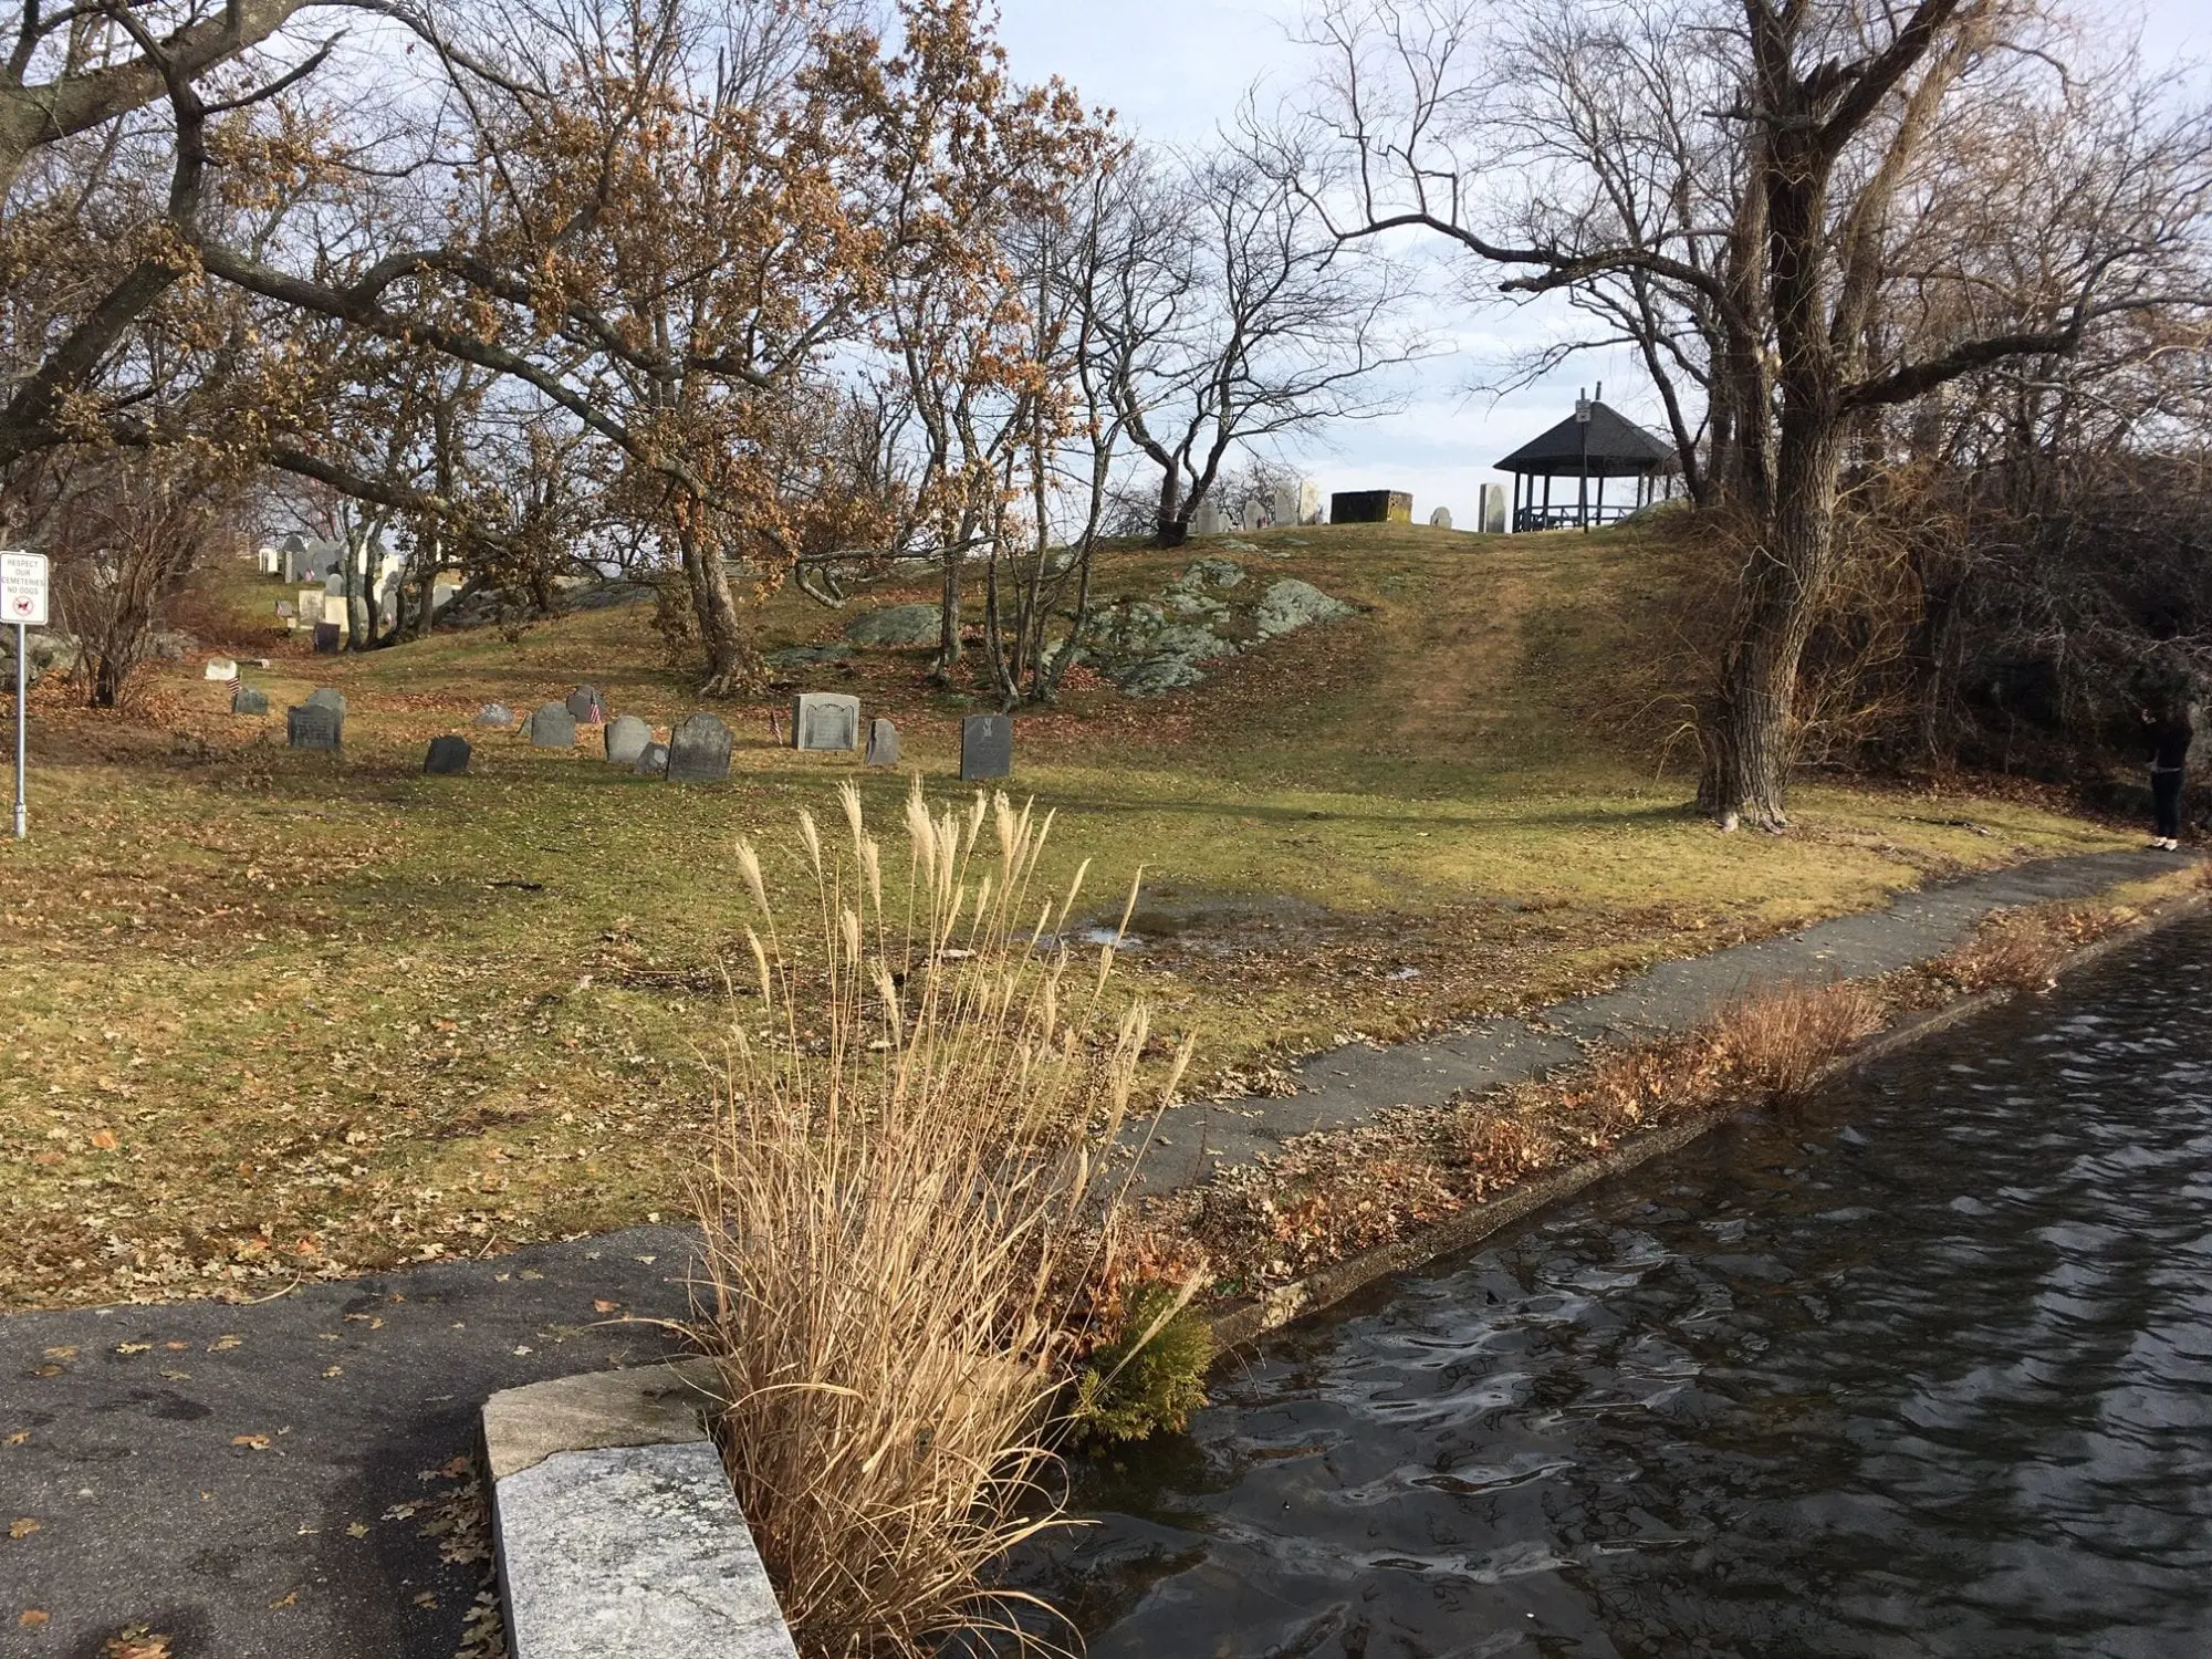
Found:
[[[2208,894],[2181,894],[2170,898],[2157,905],[2143,920],[2106,933],[2101,940],[2093,940],[2090,945],[2064,956],[2053,967],[2053,978],[2088,967],[2090,962],[2126,949],[2170,922],[2179,922],[2188,916],[2201,916],[2205,909],[2212,909],[2212,896]],[[1820,1068],[1812,1086],[1820,1088],[1836,1077],[1854,1073],[1860,1066],[1920,1042],[1922,1037],[1931,1037],[1962,1020],[1971,1020],[1984,1009],[2008,1002],[2013,995],[2013,991],[2004,989],[1982,991],[1978,995],[1949,1002],[1942,1009],[1909,1015],[1885,1031],[1876,1031],[1847,1055],[1832,1060]],[[1688,1117],[1679,1124],[1668,1124],[1666,1128],[1624,1141],[1586,1164],[1553,1170],[1551,1175],[1515,1186],[1511,1192],[1504,1192],[1486,1203],[1469,1206],[1460,1214],[1449,1221],[1440,1221],[1433,1228],[1422,1228],[1405,1239],[1391,1239],[1389,1243],[1360,1250],[1358,1254],[1345,1256],[1321,1272],[1307,1274],[1290,1285],[1279,1285],[1265,1296],[1237,1303],[1210,1321],[1208,1329],[1212,1332],[1214,1352],[1217,1356],[1228,1354],[1234,1347],[1259,1340],[1272,1329],[1281,1329],[1294,1318],[1318,1314],[1332,1303],[1340,1303],[1345,1296],[1365,1290],[1378,1279],[1387,1279],[1394,1272],[1407,1272],[1409,1267],[1420,1267],[1440,1256],[1478,1245],[1491,1234],[1511,1228],[1515,1221],[1526,1221],[1540,1210],[1571,1199],[1613,1175],[1626,1175],[1639,1164],[1681,1150],[1708,1130],[1736,1117],[1741,1110],[1743,1106],[1723,1106],[1712,1113]]]

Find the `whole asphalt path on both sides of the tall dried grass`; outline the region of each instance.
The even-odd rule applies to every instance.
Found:
[[[2051,858],[1666,962],[1535,1020],[1345,1048],[1310,1062],[1294,1097],[1177,1110],[1155,1168],[1177,1186],[1287,1135],[1535,1075],[1590,1037],[1694,1024],[1761,980],[1902,967],[1997,905],[2181,863]],[[670,1352],[659,1327],[619,1321],[681,1318],[690,1261],[690,1234],[641,1228],[250,1307],[0,1318],[0,1657],[137,1659],[108,1644],[146,1626],[166,1659],[498,1659],[469,1641],[489,1584],[478,1407]],[[456,1542],[478,1559],[447,1559]]]

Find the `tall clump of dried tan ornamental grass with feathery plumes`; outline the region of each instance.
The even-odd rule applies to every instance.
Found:
[[[1060,1520],[1046,1438],[1110,1272],[1099,1159],[1148,1015],[1108,1018],[1110,949],[1077,973],[1053,942],[1082,872],[1033,891],[1051,818],[980,794],[931,816],[916,785],[887,898],[852,785],[843,805],[843,849],[799,814],[801,940],[737,847],[759,1006],[697,1181],[723,1460],[810,1659],[1042,1646],[1042,1604],[989,1571]]]

